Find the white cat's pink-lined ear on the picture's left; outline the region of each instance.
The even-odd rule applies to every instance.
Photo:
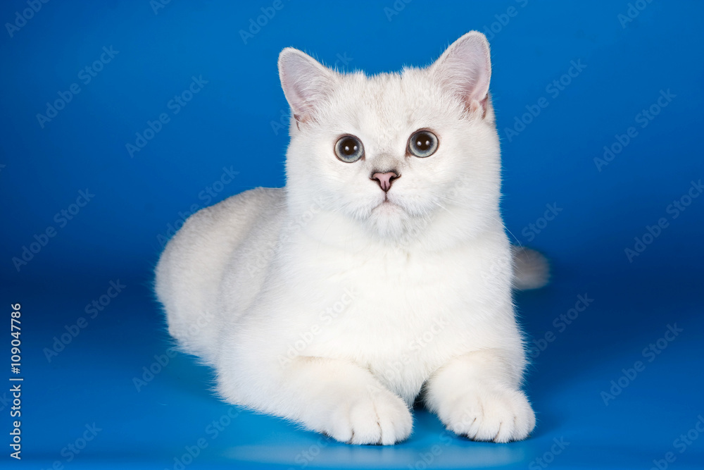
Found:
[[[293,47],[279,54],[279,78],[296,123],[313,118],[316,106],[329,96],[336,80],[332,70]]]

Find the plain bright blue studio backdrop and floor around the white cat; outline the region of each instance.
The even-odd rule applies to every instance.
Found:
[[[22,304],[23,463],[180,468],[174,459],[203,439],[187,468],[650,468],[667,452],[672,468],[701,466],[700,433],[684,449],[676,439],[704,414],[704,197],[685,197],[691,204],[677,218],[668,206],[704,178],[704,4],[641,0],[626,21],[625,0],[283,0],[245,44],[240,30],[272,3],[173,0],[154,11],[148,0],[50,1],[12,37],[0,32],[0,312],[8,319],[9,304]],[[24,8],[4,1],[1,22]],[[268,416],[234,410],[230,419],[231,408],[210,395],[208,369],[168,350],[151,270],[162,237],[194,208],[284,183],[279,51],[294,46],[341,69],[379,73],[426,65],[467,30],[492,27],[505,222],[553,263],[551,285],[517,295],[532,345],[552,339],[532,354],[527,378],[534,435],[507,445],[448,438],[419,410],[408,442],[351,447]],[[103,47],[119,52],[85,83],[80,70]],[[562,78],[570,83],[555,95],[548,87],[571,61],[586,67]],[[174,114],[169,101],[194,76],[207,83]],[[37,113],[74,83],[80,93],[42,128]],[[659,109],[667,90],[674,98]],[[548,106],[509,135],[541,97]],[[658,115],[643,128],[636,119],[653,105]],[[126,144],[161,113],[169,122],[130,156]],[[594,159],[631,126],[637,135],[599,171]],[[217,183],[223,168],[239,172],[226,185]],[[94,194],[81,208],[72,206],[80,190]],[[561,209],[548,222],[546,204]],[[76,209],[63,221],[62,210]],[[629,260],[624,250],[660,218],[667,227]],[[55,236],[44,239],[48,228]],[[35,235],[46,245],[33,245],[18,270],[13,258]],[[118,280],[125,288],[102,297],[110,303],[90,318],[87,304]],[[553,321],[578,295],[593,302],[562,330]],[[80,317],[87,326],[49,361],[46,349]],[[681,333],[658,346],[675,324]],[[9,331],[0,336],[9,363]],[[650,344],[659,354],[643,353]],[[168,364],[154,366],[164,357]],[[621,378],[636,361],[644,369]],[[605,400],[620,378],[625,386]],[[0,392],[3,459],[10,407]],[[227,426],[213,437],[207,427],[220,419]],[[82,446],[93,423],[101,431],[69,462],[62,449]],[[555,439],[569,444],[553,447]]]

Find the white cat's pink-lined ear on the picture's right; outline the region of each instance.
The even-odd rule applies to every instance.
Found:
[[[486,116],[489,106],[491,55],[489,42],[478,31],[453,42],[430,66],[435,79],[463,99],[470,112],[482,111]]]

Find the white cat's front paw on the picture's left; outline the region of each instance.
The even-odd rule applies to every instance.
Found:
[[[389,390],[351,394],[329,416],[325,433],[343,443],[391,445],[408,438],[413,416]]]

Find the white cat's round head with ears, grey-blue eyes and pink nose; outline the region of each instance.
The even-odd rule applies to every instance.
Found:
[[[279,75],[291,106],[294,215],[315,208],[391,240],[471,236],[498,218],[500,151],[481,33],[427,68],[372,77],[287,48]]]

